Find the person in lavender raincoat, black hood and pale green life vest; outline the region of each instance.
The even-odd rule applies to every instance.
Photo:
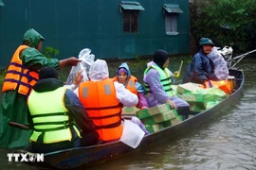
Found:
[[[190,105],[178,98],[172,91],[172,72],[168,69],[169,55],[164,50],[156,50],[153,61],[147,64],[148,68],[144,72],[146,92],[150,107],[168,103],[172,109],[188,118]]]

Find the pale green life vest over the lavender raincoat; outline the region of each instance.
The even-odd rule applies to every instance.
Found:
[[[173,88],[171,87],[171,84],[172,84],[172,78],[171,78],[171,74],[170,74],[171,71],[168,68],[164,68],[164,70],[162,70],[158,65],[154,64],[145,70],[144,76],[149,72],[150,69],[155,69],[159,73],[160,81],[164,88],[164,91],[169,96],[174,96],[174,93],[172,92]],[[145,82],[145,91],[146,91],[147,96],[149,96],[149,94],[152,93],[149,85],[146,82]]]

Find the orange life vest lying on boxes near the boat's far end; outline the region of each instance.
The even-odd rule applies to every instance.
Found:
[[[233,81],[232,80],[220,80],[220,81],[205,81],[201,88],[207,89],[211,87],[217,87],[224,91],[225,93],[231,93],[232,89],[234,88]]]

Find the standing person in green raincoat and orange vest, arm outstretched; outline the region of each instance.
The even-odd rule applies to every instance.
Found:
[[[24,34],[23,44],[13,54],[2,88],[3,98],[0,106],[0,147],[23,147],[28,144],[31,130],[10,127],[9,121],[27,125],[27,96],[38,81],[42,67],[56,69],[64,66],[75,66],[81,60],[46,59],[40,53],[45,38],[34,29]]]

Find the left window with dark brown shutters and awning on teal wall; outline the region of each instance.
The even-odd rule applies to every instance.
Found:
[[[138,33],[138,14],[140,10],[145,10],[135,1],[121,1],[120,11],[123,14],[123,32]]]

